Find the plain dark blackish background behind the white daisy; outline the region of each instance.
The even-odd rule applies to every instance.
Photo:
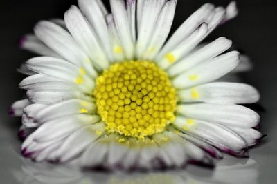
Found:
[[[108,1],[104,0],[107,4]],[[215,3],[226,6],[229,1],[223,0],[179,0],[173,29],[176,29],[190,14],[203,3]],[[12,130],[16,135],[15,122],[6,112],[10,104],[21,99],[23,92],[17,84],[23,75],[15,70],[22,62],[33,55],[21,51],[18,47],[19,39],[26,33],[33,32],[33,26],[42,19],[63,17],[64,12],[75,0],[24,0],[1,1],[0,4],[0,123]],[[262,94],[260,104],[265,108],[262,114],[262,132],[268,134],[264,143],[253,150],[260,167],[265,167],[262,177],[270,176],[274,171],[259,159],[267,159],[267,154],[273,154],[276,145],[277,119],[277,3],[275,0],[241,0],[238,1],[240,14],[236,19],[217,28],[208,38],[210,40],[220,36],[233,40],[233,43],[248,54],[255,68],[252,72],[242,74],[243,79],[254,85]],[[0,130],[0,132],[3,130]],[[0,148],[1,149],[1,148]],[[260,157],[259,157],[260,155]],[[265,155],[265,156],[263,156]],[[274,155],[274,154],[273,154]],[[274,157],[275,158],[275,157]],[[269,161],[270,162],[270,161]],[[274,161],[276,163],[276,160]]]

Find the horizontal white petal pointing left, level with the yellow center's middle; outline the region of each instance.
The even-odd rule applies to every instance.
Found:
[[[27,97],[33,103],[53,104],[70,99],[80,99],[84,101],[93,101],[90,96],[78,91],[64,90],[28,90]]]

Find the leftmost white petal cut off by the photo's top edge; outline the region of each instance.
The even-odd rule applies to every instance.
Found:
[[[107,14],[107,10],[103,12],[104,6],[101,5],[102,2],[98,0],[79,0],[78,5],[80,7],[80,10],[82,10],[82,13],[84,13],[85,17],[87,17],[87,20],[91,24],[93,30],[95,31],[94,34],[97,35],[97,37],[100,40],[100,45],[102,45],[103,50],[105,51],[105,54],[107,54],[107,57],[109,61],[113,60],[113,57],[111,55],[111,43],[109,40],[108,29],[107,29],[107,23],[105,21],[105,16]],[[84,28],[80,28],[84,29]],[[95,52],[93,50],[93,52]]]

